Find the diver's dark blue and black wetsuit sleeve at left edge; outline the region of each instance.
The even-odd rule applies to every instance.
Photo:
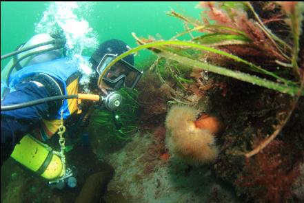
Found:
[[[23,82],[15,86],[15,91],[7,94],[1,105],[13,105],[31,100],[54,96],[47,85]],[[1,165],[10,157],[14,146],[38,124],[42,118],[48,117],[52,103],[41,103],[11,111],[1,111]]]

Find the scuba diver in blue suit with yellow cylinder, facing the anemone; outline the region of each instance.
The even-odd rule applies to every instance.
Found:
[[[64,44],[50,34],[37,34],[15,52],[1,56],[1,60],[13,57],[1,71],[1,166],[12,156],[50,183],[72,176],[65,167],[64,121],[79,114],[81,123],[87,123],[95,108],[115,111],[122,100],[116,91],[133,89],[142,75],[132,54],[109,66],[130,49],[123,41],[111,39],[90,58],[82,56],[93,73],[89,83],[81,85],[79,61],[63,56]],[[85,87],[90,94],[81,94]],[[60,152],[43,143],[55,133]]]

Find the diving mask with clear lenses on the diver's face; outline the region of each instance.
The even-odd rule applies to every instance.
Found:
[[[123,59],[117,61],[110,69],[106,69],[116,57],[117,55],[114,54],[105,54],[103,56],[99,65],[97,65],[96,71],[99,74],[97,85],[100,87],[103,82],[114,90],[118,90],[121,87],[133,89],[139,82],[143,72],[140,72]]]

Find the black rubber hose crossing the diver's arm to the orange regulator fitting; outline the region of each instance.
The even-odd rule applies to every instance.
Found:
[[[1,105],[1,111],[11,111],[11,110],[14,110],[14,109],[21,109],[21,108],[30,107],[30,106],[33,106],[33,105],[39,105],[41,103],[49,102],[49,101],[52,101],[52,100],[63,100],[63,99],[71,99],[71,98],[78,98],[78,94],[50,96],[50,97],[47,97],[47,98],[31,100],[31,101],[26,102],[26,103],[19,103],[19,104],[15,104],[15,105],[5,105],[5,106]]]

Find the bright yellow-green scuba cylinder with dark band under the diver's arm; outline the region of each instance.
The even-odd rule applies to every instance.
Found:
[[[23,136],[10,155],[14,160],[47,180],[64,174],[61,158],[52,149],[29,134]]]

